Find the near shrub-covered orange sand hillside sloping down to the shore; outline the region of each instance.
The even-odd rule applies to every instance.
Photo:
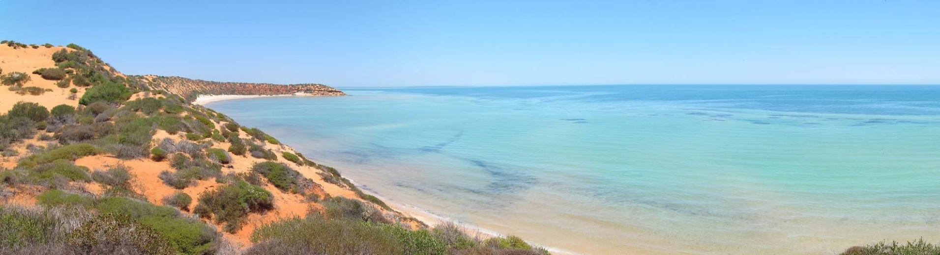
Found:
[[[548,253],[431,229],[78,45],[4,41],[0,68],[0,255]]]

